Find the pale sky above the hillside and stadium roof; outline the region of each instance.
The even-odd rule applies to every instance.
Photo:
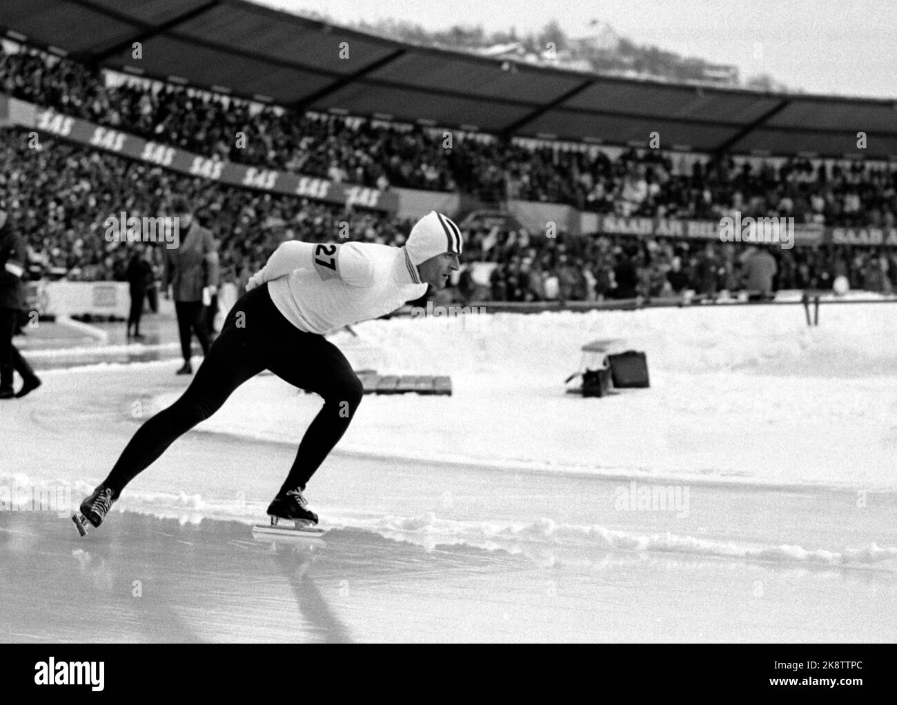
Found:
[[[310,7],[340,21],[390,17],[430,30],[482,24],[485,30],[538,30],[557,19],[570,36],[609,23],[637,44],[654,44],[738,66],[742,80],[771,74],[811,93],[897,98],[894,0],[254,0],[298,12]]]

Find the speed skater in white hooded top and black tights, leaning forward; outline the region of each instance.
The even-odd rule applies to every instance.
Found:
[[[324,406],[302,437],[268,514],[317,524],[303,495],[306,483],[342,438],[364,391],[325,335],[420,299],[428,284],[444,288],[459,267],[462,245],[457,225],[435,211],[414,224],[401,248],[284,242],[249,279],[248,293],[228,313],[187,391],[136,431],[109,477],[83,501],[83,517],[99,527],[126,484],[174,440],[215,413],[247,379],[271,370],[316,392]]]

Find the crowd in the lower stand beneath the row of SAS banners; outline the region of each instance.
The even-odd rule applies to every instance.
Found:
[[[106,219],[122,211],[173,217],[183,200],[218,239],[222,272],[231,281],[252,274],[285,239],[337,239],[341,222],[349,223],[348,239],[387,244],[403,242],[409,229],[370,211],[227,187],[62,141],[33,148],[22,131],[9,137],[0,149],[0,191],[39,274],[123,280],[128,248],[106,240]]]

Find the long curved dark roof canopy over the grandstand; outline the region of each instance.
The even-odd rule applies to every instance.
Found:
[[[93,65],[300,110],[599,144],[645,146],[657,132],[661,147],[697,152],[897,158],[894,100],[507,64],[243,0],[3,0],[0,28]],[[135,41],[140,59],[132,57]],[[858,132],[867,134],[865,150]]]

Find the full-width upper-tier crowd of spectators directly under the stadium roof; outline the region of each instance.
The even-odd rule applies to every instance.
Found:
[[[856,161],[723,157],[678,167],[668,152],[536,146],[360,117],[295,113],[111,74],[34,49],[0,52],[0,91],[207,156],[386,189],[463,190],[619,215],[893,227],[897,170]],[[118,77],[121,79],[121,77]],[[246,136],[238,146],[238,134]]]

